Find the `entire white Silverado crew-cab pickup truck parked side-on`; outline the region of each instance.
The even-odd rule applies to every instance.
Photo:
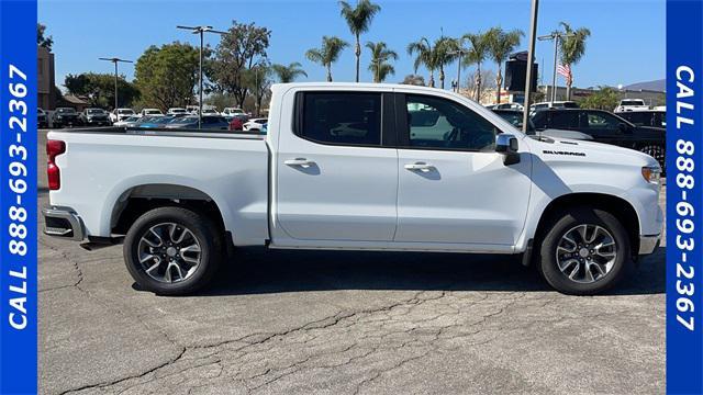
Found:
[[[241,246],[522,255],[558,291],[593,294],[658,244],[645,154],[529,137],[433,88],[271,89],[265,138],[51,132],[45,233],[124,242],[159,294],[200,289]]]

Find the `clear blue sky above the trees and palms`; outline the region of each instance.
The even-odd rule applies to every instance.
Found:
[[[354,3],[354,0],[349,0]],[[395,75],[387,82],[399,82],[413,72],[408,43],[425,36],[431,41],[445,36],[486,31],[492,26],[525,32],[520,50],[527,48],[529,0],[439,0],[383,1],[361,43],[383,41],[399,54]],[[40,0],[38,21],[54,38],[56,83],[63,86],[68,74],[113,72],[113,66],[99,57],[136,60],[150,45],[174,41],[198,44],[197,36],[176,25],[212,25],[227,30],[232,21],[254,22],[271,30],[268,58],[288,65],[299,61],[308,72],[300,81],[324,80],[322,66],[305,59],[305,50],[321,45],[323,35],[336,35],[354,43],[337,1],[196,1],[196,0]],[[548,34],[560,21],[572,27],[591,30],[582,60],[572,67],[576,87],[618,86],[662,79],[666,68],[665,0],[542,0],[538,35]],[[219,36],[205,37],[211,46]],[[545,83],[550,83],[554,45],[537,42],[536,60]],[[367,70],[367,48],[361,54],[361,80],[372,80]],[[120,65],[120,74],[132,80],[132,65]],[[496,70],[488,60],[484,69]],[[450,65],[447,81],[457,71]],[[462,70],[462,81],[471,69]],[[353,81],[353,46],[333,65],[335,81]],[[427,71],[420,69],[427,79]],[[435,76],[437,78],[437,76]],[[563,80],[559,79],[560,84]],[[447,88],[448,88],[447,82]],[[63,88],[63,87],[62,87]]]

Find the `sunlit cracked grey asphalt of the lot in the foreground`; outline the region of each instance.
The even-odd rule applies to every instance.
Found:
[[[42,394],[665,392],[665,248],[593,297],[506,257],[259,248],[163,297],[44,235],[38,276]]]

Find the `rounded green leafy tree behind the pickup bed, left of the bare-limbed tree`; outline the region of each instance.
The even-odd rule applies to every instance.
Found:
[[[164,111],[185,106],[193,97],[199,65],[199,50],[190,44],[175,42],[148,47],[134,65],[142,103]]]

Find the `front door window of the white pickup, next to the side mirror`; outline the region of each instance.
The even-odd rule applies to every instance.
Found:
[[[498,131],[459,103],[425,95],[405,95],[411,147],[491,149]]]

